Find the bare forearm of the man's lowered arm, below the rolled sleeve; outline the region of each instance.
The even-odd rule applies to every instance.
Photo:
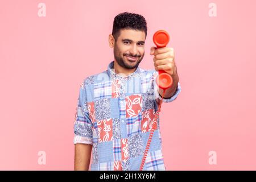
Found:
[[[75,171],[88,171],[92,144],[75,144]]]

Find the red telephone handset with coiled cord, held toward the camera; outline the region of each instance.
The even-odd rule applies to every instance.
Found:
[[[155,34],[153,36],[153,42],[155,43],[156,48],[166,47],[169,40],[170,40],[170,36],[164,30],[159,30],[159,31],[155,32]],[[163,97],[164,97],[164,93],[165,93],[166,89],[168,89],[172,86],[173,80],[172,80],[171,75],[169,75],[168,73],[166,73],[163,70],[159,70],[158,73],[159,74],[158,74],[158,77],[156,78],[156,84],[159,86],[159,88],[163,89]],[[156,119],[153,119],[153,121],[155,121],[155,122],[152,124],[152,129],[151,129],[150,135],[148,137],[147,146],[146,146],[146,149],[145,149],[145,152],[144,152],[144,155],[142,158],[142,162],[141,162],[141,167],[139,168],[140,171],[142,171],[144,164],[146,162],[147,152],[150,148],[150,143],[151,143],[151,140],[153,137],[153,133],[155,131],[155,127],[156,127],[156,121],[157,121],[157,119],[159,119],[159,112],[160,112],[161,105],[163,102],[163,97],[162,97],[162,100],[160,100],[158,110],[155,113]]]

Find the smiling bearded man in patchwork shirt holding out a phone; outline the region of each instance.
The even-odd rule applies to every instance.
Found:
[[[114,18],[109,46],[114,61],[108,69],[82,81],[74,125],[75,170],[139,170],[151,131],[157,122],[143,170],[166,170],[159,119],[155,112],[163,90],[155,84],[159,70],[174,80],[163,102],[181,91],[174,49],[151,47],[153,70],[138,67],[144,56],[147,24],[142,15],[121,13]],[[153,62],[152,62],[153,63]]]

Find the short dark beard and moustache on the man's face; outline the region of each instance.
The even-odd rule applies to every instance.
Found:
[[[121,53],[120,51],[119,51],[119,49],[118,49],[118,47],[117,46],[114,46],[114,58],[115,58],[115,60],[117,61],[117,63],[121,66],[121,67],[123,67],[123,68],[125,68],[125,69],[134,69],[134,68],[137,68],[138,66],[139,66],[139,63],[141,63],[141,61],[142,61],[142,59],[143,59],[143,57],[144,57],[144,54],[145,53],[143,53],[143,55],[130,55],[130,54],[127,54],[127,53]],[[130,63],[130,61],[129,60],[124,60],[123,59],[123,57],[124,56],[133,56],[133,57],[138,57],[138,60],[137,61],[135,61],[134,63]]]

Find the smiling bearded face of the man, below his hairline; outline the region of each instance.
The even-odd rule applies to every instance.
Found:
[[[114,43],[114,58],[125,69],[137,68],[144,57],[144,31],[120,30]]]

